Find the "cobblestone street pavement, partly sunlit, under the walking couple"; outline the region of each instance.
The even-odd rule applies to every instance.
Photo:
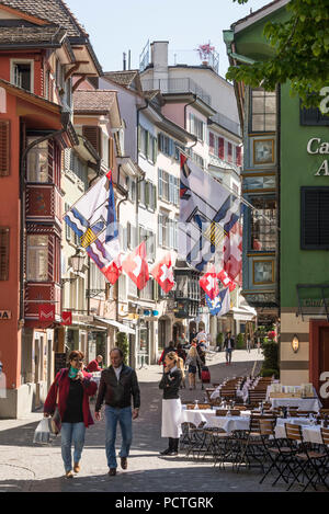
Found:
[[[262,355],[252,350],[234,352],[234,363],[225,365],[223,353],[208,361],[212,381],[228,376],[258,373]],[[139,369],[141,390],[139,418],[134,421],[134,442],[128,469],[118,468],[116,477],[107,476],[104,452],[104,420],[87,430],[86,446],[81,459],[81,472],[72,480],[63,477],[60,437],[49,446],[33,445],[34,430],[42,413],[32,413],[24,420],[0,420],[0,492],[253,492],[273,491],[270,482],[259,486],[256,470],[236,473],[228,467],[214,468],[211,461],[193,461],[184,454],[178,457],[160,457],[166,447],[160,437],[161,378],[159,366]],[[195,391],[182,389],[182,400],[203,400],[204,391],[197,384]],[[93,407],[93,406],[92,406]],[[120,437],[117,447],[120,446]],[[284,491],[276,486],[275,491]]]

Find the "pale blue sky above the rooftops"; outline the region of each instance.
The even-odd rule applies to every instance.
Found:
[[[228,60],[223,30],[235,21],[270,3],[249,0],[66,0],[86,27],[104,71],[123,69],[123,53],[132,52],[132,69],[139,67],[139,55],[147,41],[169,41],[169,59],[180,64],[201,64],[195,48],[211,42],[219,53],[219,73],[225,76]]]

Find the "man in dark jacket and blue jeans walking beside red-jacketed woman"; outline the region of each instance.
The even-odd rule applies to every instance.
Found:
[[[120,422],[122,432],[122,446],[118,456],[121,467],[127,469],[127,457],[133,438],[132,420],[138,418],[140,407],[140,392],[136,372],[123,363],[123,353],[120,349],[113,349],[110,353],[111,366],[102,372],[95,402],[95,419],[101,420],[101,407],[105,400],[105,449],[107,457],[109,475],[116,475],[115,438],[116,426]],[[132,412],[132,397],[134,410]]]

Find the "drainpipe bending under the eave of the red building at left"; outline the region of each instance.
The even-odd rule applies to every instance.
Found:
[[[20,320],[19,327],[24,324],[24,243],[25,243],[25,233],[26,233],[26,203],[25,203],[25,186],[26,186],[26,159],[30,150],[41,142],[47,141],[49,139],[55,139],[55,137],[60,136],[66,132],[65,128],[60,128],[47,136],[41,137],[35,141],[27,145],[23,150],[21,156],[21,172],[20,172],[20,199],[21,199],[21,233],[20,233]]]

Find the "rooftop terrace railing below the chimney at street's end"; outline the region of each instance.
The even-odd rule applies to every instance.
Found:
[[[207,105],[212,105],[212,98],[194,80],[183,79],[141,79],[145,91],[160,90],[161,93],[193,93]]]

